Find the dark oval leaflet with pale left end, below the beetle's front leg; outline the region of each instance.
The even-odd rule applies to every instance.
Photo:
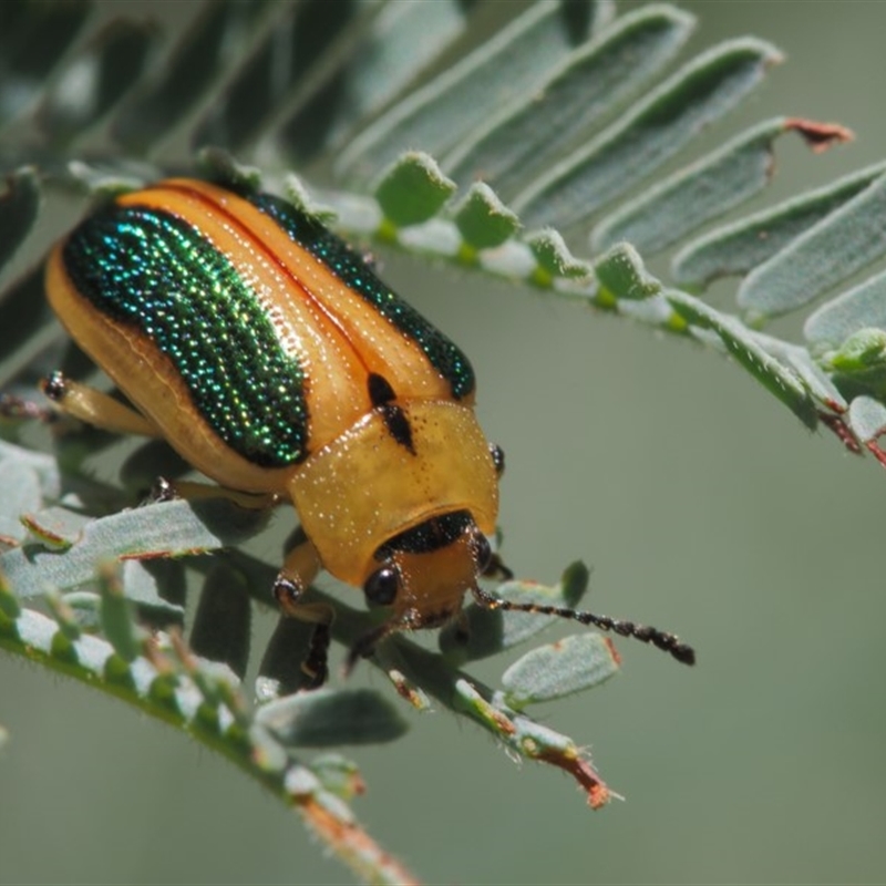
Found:
[[[399,711],[370,689],[318,689],[270,701],[256,722],[286,746],[327,748],[393,741],[406,731]]]

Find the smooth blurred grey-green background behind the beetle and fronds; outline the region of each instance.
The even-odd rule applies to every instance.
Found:
[[[777,196],[886,156],[885,3],[681,6],[696,49],[753,33],[789,56],[730,132],[782,113],[856,131],[821,157],[782,143]],[[405,739],[346,749],[370,832],[427,883],[884,882],[884,470],[701,348],[383,258],[474,361],[508,563],[554,580],[584,558],[595,610],[677,630],[700,662],[622,640],[621,676],[537,711],[625,796],[598,813],[470,724],[405,711]],[[126,705],[3,656],[0,723],[2,883],[350,882],[269,795]]]

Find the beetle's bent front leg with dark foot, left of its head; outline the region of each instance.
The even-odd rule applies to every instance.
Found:
[[[302,534],[296,547],[287,554],[284,568],[274,583],[274,596],[282,611],[290,618],[313,625],[308,655],[301,662],[301,670],[311,679],[311,689],[322,686],[329,673],[327,666],[331,639],[329,626],[334,618],[332,608],[326,604],[301,602],[301,598],[319,571],[320,558],[317,556],[317,548]]]

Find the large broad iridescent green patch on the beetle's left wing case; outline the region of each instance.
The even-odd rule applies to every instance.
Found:
[[[111,204],[73,230],[62,258],[84,298],[172,360],[195,409],[231,450],[262,467],[307,457],[301,364],[281,350],[227,257],[190,225]]]

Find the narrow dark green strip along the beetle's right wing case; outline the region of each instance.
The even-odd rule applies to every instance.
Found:
[[[237,190],[239,196],[274,218],[298,246],[322,261],[349,289],[365,299],[423,351],[431,365],[461,400],[476,385],[467,357],[411,305],[385,286],[365,261],[316,218],[264,192]]]

